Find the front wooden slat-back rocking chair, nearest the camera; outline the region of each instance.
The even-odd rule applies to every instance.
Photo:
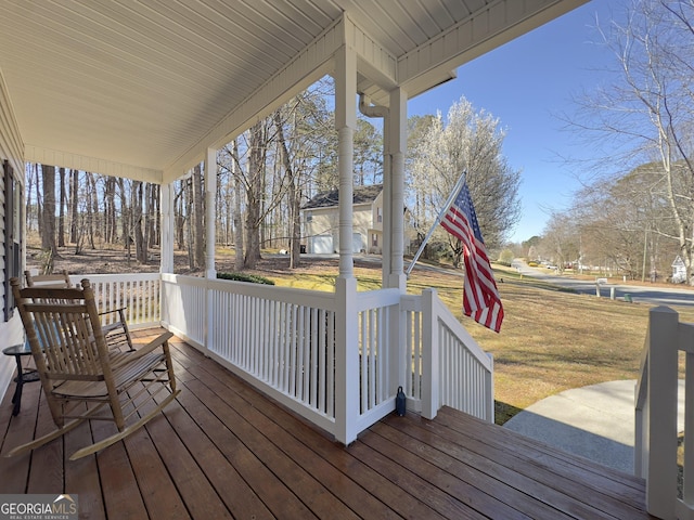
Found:
[[[75,460],[124,439],[176,399],[180,390],[169,353],[171,333],[133,352],[113,351],[88,280],[81,288],[21,288],[18,278],[11,284],[57,429],[7,456],[35,450],[85,420],[115,422],[117,433],[78,450],[69,457]]]

